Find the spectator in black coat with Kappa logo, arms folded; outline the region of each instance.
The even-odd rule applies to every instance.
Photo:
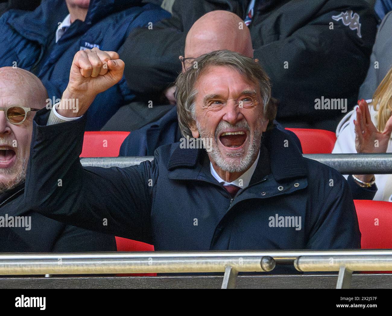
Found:
[[[218,9],[249,24],[254,57],[271,78],[272,96],[280,101],[278,122],[335,130],[341,109],[316,110],[315,100],[354,104],[357,99],[377,25],[374,9],[364,1],[176,0],[171,18],[151,31],[133,30],[120,51],[138,100],[165,104],[159,100],[181,71],[177,57],[183,55],[187,32],[200,16]]]

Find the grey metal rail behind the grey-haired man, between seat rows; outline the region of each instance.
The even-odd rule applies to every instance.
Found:
[[[304,154],[303,157],[326,164],[341,174],[392,174],[392,155],[390,153],[339,153]],[[145,157],[97,157],[81,158],[83,166],[129,167],[142,161],[152,161],[154,156]]]

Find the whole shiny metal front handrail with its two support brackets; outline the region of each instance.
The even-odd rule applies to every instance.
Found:
[[[301,272],[339,271],[336,288],[349,288],[353,271],[392,270],[392,250],[264,250],[0,254],[0,275],[225,272],[234,288],[238,272],[268,272],[294,263]]]

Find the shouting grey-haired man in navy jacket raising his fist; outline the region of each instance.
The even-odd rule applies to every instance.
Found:
[[[270,87],[260,65],[231,51],[194,65],[176,83],[186,141],[161,146],[137,166],[83,168],[84,113],[121,79],[124,63],[95,48],[76,53],[63,98],[78,97],[79,112],[60,106],[34,118],[27,177],[34,190],[26,194],[34,210],[155,250],[359,248],[343,176],[303,158],[286,133],[267,130]],[[206,148],[194,146],[200,138]]]

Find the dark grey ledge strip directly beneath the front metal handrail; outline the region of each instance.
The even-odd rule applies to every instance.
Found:
[[[335,289],[337,274],[238,276],[238,289]],[[15,277],[0,289],[220,289],[223,276]],[[392,274],[353,274],[351,289],[391,289]]]

